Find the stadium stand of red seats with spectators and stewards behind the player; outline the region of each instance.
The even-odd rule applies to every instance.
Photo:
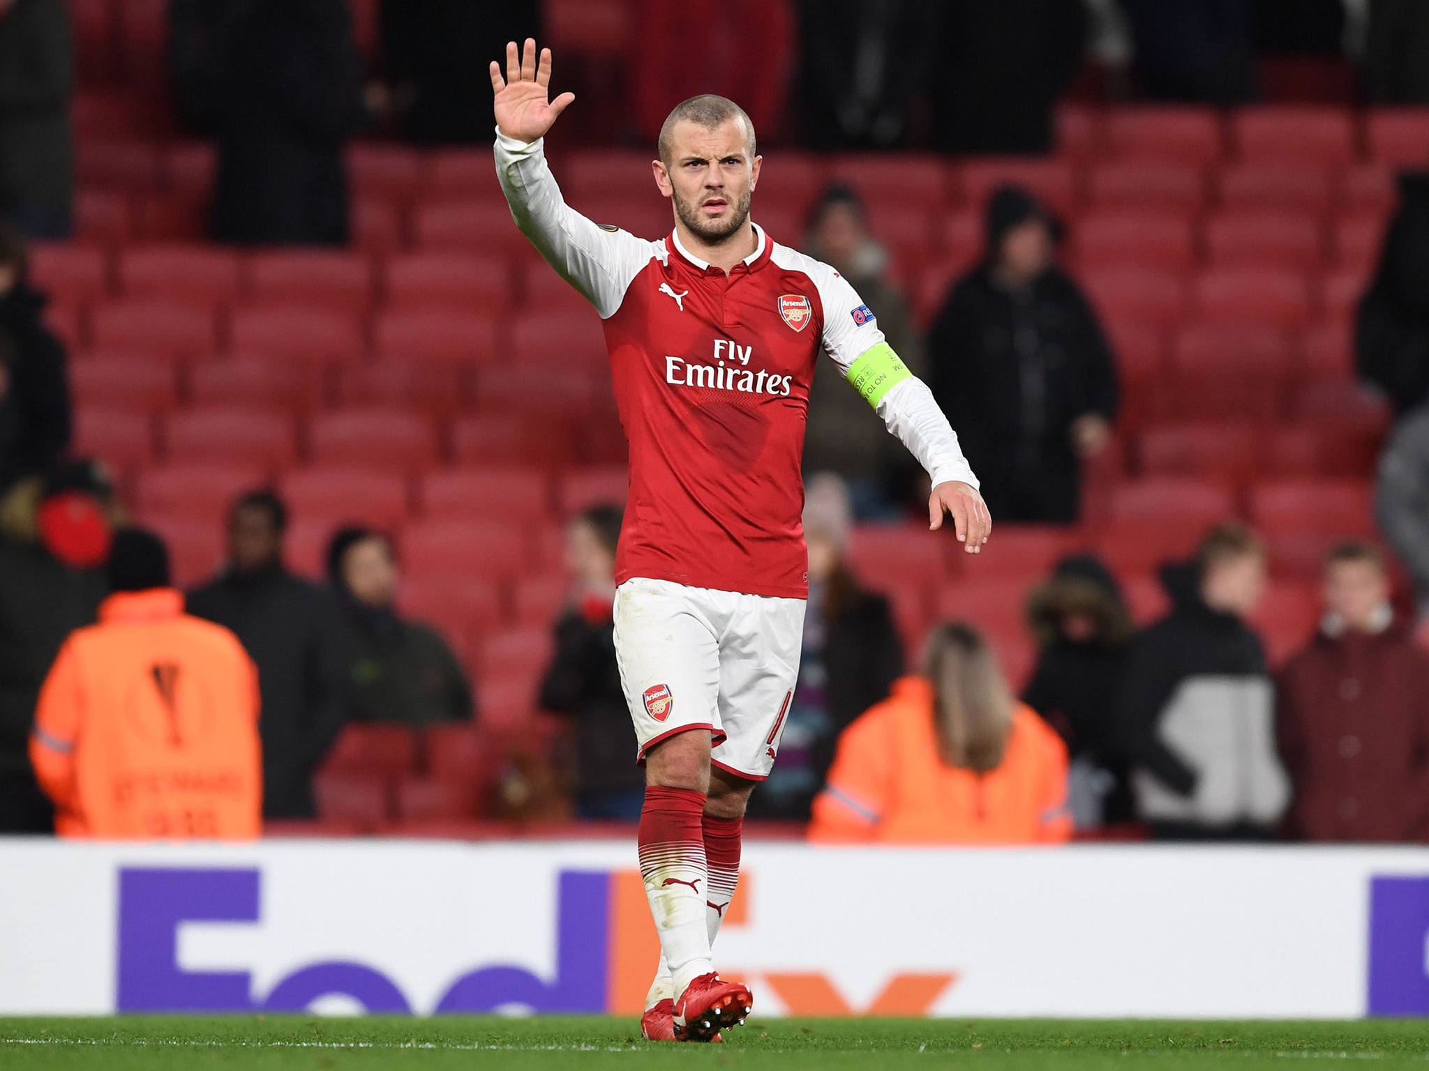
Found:
[[[492,208],[482,59],[542,30],[589,100],[557,177],[652,237],[594,131],[749,109],[755,218],[853,281],[997,524],[956,561],[815,378],[752,820],[1429,840],[1419,6],[714,7],[0,0],[0,833],[639,817],[594,317]]]

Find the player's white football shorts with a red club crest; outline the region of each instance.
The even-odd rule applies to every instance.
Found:
[[[799,677],[805,600],[627,580],[616,588],[616,658],[637,758],[707,728],[720,770],[762,781]]]

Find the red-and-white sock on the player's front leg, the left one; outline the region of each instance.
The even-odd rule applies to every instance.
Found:
[[[713,971],[706,930],[704,794],[690,788],[644,790],[640,875],[677,997],[692,978]]]

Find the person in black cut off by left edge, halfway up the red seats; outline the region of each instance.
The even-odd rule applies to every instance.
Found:
[[[26,283],[24,238],[0,223],[0,494],[70,444],[64,344],[44,326],[44,304]]]

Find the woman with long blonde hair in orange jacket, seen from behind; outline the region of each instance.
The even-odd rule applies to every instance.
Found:
[[[1072,835],[1067,753],[1007,688],[987,640],[943,624],[923,673],[849,725],[810,840],[1036,844]]]

